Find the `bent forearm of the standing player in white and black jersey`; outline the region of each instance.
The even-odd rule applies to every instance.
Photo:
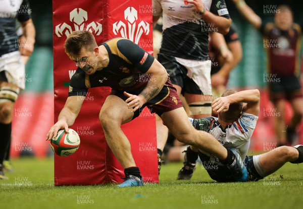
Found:
[[[212,28],[216,29],[216,32],[221,34],[228,33],[231,24],[231,19],[226,19],[224,17],[214,15],[213,13],[207,10],[201,16],[206,23],[211,25]]]

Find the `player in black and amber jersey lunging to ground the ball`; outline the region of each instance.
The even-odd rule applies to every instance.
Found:
[[[75,31],[66,39],[64,47],[78,69],[71,78],[69,97],[58,122],[46,139],[56,136],[60,129],[68,132],[88,88],[110,86],[112,91],[100,110],[99,119],[108,145],[124,168],[126,179],[119,187],[143,185],[121,125],[136,118],[145,106],[157,113],[180,141],[218,156],[238,181],[247,179],[247,170],[235,150],[226,149],[211,134],[192,127],[165,68],[137,44],[125,38],[113,38],[98,46],[92,33]]]

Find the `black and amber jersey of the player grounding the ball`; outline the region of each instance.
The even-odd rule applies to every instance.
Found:
[[[125,38],[113,38],[101,45],[108,51],[109,65],[92,75],[78,68],[70,81],[69,96],[85,96],[88,88],[99,86],[132,92],[147,85],[150,75],[146,72],[155,60],[153,56]]]

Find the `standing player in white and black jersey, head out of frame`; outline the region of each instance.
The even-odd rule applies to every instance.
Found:
[[[153,0],[153,23],[163,16],[163,39],[158,61],[170,75],[178,95],[184,95],[193,118],[207,117],[211,109],[209,33],[226,34],[231,24],[225,1]],[[158,155],[168,131],[157,118]]]

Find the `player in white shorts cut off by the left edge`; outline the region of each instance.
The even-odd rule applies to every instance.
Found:
[[[26,8],[26,9],[25,9]],[[20,89],[25,88],[25,66],[22,56],[30,56],[35,43],[35,27],[30,17],[31,10],[26,0],[4,0],[0,8],[0,179],[3,161],[9,147],[12,132],[14,103]],[[18,41],[16,19],[21,23],[25,43]],[[19,46],[20,51],[19,51]]]

